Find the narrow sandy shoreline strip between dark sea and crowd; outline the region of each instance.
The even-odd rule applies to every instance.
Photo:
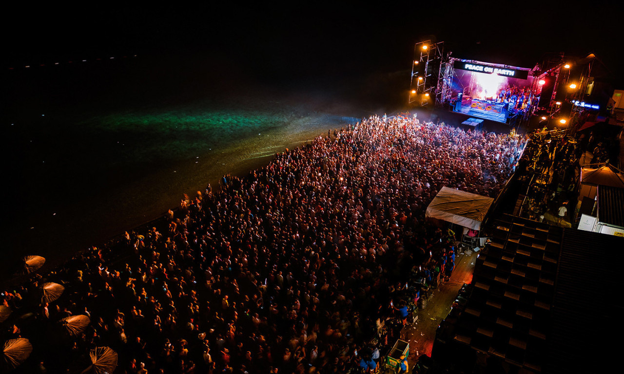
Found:
[[[47,274],[90,247],[102,246],[122,236],[125,231],[149,226],[150,223],[158,221],[167,209],[177,209],[185,193],[192,195],[198,190],[203,191],[207,183],[218,188],[218,181],[223,175],[245,175],[268,165],[276,153],[305,144],[330,128],[333,130],[347,124],[344,117],[328,114],[306,116],[296,122],[298,123],[272,128],[266,137],[269,140],[262,137],[261,143],[266,148],[264,151],[258,152],[260,137],[246,137],[213,152],[212,155],[198,156],[197,160],[201,161],[175,161],[168,163],[162,170],[144,175],[127,185],[115,185],[113,191],[107,191],[105,198],[93,196],[87,199],[92,200],[87,213],[80,213],[81,203],[63,206],[58,214],[55,212],[52,217],[48,214],[47,221],[35,228],[36,235],[29,235],[31,233],[28,229],[23,227],[21,237],[14,231],[12,238],[19,242],[12,243],[12,247],[20,249],[13,251],[12,261],[4,261],[4,274],[7,277],[3,277],[0,283],[7,287],[22,281],[22,276],[14,275],[12,265],[23,256],[34,254],[46,257],[46,264],[39,274]],[[158,181],[163,185],[156,185]],[[146,189],[146,186],[152,188]],[[157,197],[154,198],[152,193]],[[129,199],[124,199],[124,196]],[[110,204],[110,201],[115,203]],[[141,209],[137,210],[139,208]],[[64,216],[69,218],[64,219]],[[37,241],[42,238],[50,239],[49,244],[41,246],[41,251],[29,251],[32,248],[37,249]],[[52,240],[54,238],[56,241]]]

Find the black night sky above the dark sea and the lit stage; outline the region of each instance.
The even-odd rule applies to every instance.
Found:
[[[594,52],[621,76],[617,2],[225,3],[9,7],[2,65],[140,53],[208,55],[256,75],[347,74],[409,69],[414,42],[436,37],[456,57],[523,67],[545,52]]]

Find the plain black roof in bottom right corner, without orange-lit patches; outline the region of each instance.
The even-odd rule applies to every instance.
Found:
[[[545,372],[603,373],[621,365],[622,249],[622,237],[565,229]]]

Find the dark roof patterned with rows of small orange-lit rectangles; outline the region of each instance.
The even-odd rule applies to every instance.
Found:
[[[454,339],[541,372],[562,229],[505,216],[491,231]]]

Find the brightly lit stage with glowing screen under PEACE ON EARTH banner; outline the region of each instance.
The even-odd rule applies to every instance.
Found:
[[[451,89],[455,112],[507,123],[539,100],[529,69],[456,60]],[[535,87],[533,87],[535,88]]]

